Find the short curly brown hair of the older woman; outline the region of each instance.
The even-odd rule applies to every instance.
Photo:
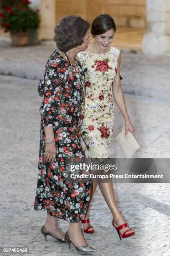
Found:
[[[57,49],[60,51],[69,51],[70,49],[81,45],[87,30],[90,28],[88,21],[80,16],[70,15],[62,20],[54,29]]]

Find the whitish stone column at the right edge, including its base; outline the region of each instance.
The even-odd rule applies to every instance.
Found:
[[[170,0],[147,0],[148,33],[143,37],[143,54],[170,53]]]

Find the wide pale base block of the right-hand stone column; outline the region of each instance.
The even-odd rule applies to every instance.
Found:
[[[170,36],[146,33],[143,36],[143,54],[160,56],[170,53]]]

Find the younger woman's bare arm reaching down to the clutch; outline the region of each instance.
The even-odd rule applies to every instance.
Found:
[[[120,86],[120,62],[121,62],[121,55],[119,54],[119,59],[117,63],[117,76],[115,78],[115,81],[113,82],[112,92],[113,92],[113,97],[115,99],[115,102],[118,108],[120,109],[122,116],[125,119],[125,136],[128,134],[128,131],[130,131],[134,136],[135,129],[132,123],[130,122],[130,118],[129,118],[128,111],[125,104],[125,97],[124,97],[122,88]]]

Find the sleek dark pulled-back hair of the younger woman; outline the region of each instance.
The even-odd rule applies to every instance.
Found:
[[[108,14],[97,16],[92,22],[91,34],[97,36],[106,33],[108,30],[116,31],[116,25],[113,18]]]

